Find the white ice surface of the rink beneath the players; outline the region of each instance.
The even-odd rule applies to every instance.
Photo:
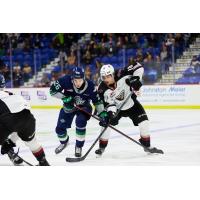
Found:
[[[132,141],[112,131],[109,145],[101,158],[96,158],[94,150],[88,157],[77,163],[67,163],[66,157],[74,157],[75,126],[68,131],[70,145],[59,155],[54,150],[59,144],[55,133],[59,110],[32,110],[37,120],[37,138],[43,145],[51,165],[91,166],[91,165],[200,165],[200,110],[147,110],[150,119],[152,146],[161,148],[164,155],[149,155]],[[128,118],[122,118],[116,127],[134,139],[139,139],[138,127]],[[95,119],[87,126],[86,143],[83,154],[98,136],[100,127]],[[19,154],[27,161],[37,164],[29,149],[20,141]],[[7,156],[0,156],[0,165],[12,165]]]

